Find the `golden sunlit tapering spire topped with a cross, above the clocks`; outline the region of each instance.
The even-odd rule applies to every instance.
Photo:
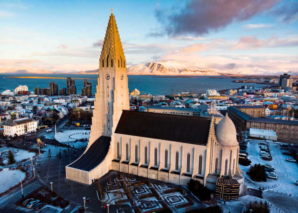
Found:
[[[103,48],[100,54],[100,70],[112,70],[116,67],[126,68],[125,56],[115,20],[113,15],[110,15],[108,27],[103,41]]]

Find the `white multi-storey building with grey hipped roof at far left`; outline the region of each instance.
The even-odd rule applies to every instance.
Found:
[[[37,121],[32,118],[8,119],[3,124],[4,135],[18,136],[36,132]]]

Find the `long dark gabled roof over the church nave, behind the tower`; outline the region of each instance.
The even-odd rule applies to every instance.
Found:
[[[209,117],[123,110],[115,133],[205,146],[210,122]]]

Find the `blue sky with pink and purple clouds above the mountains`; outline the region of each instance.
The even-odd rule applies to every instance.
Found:
[[[298,0],[0,0],[0,66],[97,69],[111,7],[128,66],[172,60],[298,71]]]

